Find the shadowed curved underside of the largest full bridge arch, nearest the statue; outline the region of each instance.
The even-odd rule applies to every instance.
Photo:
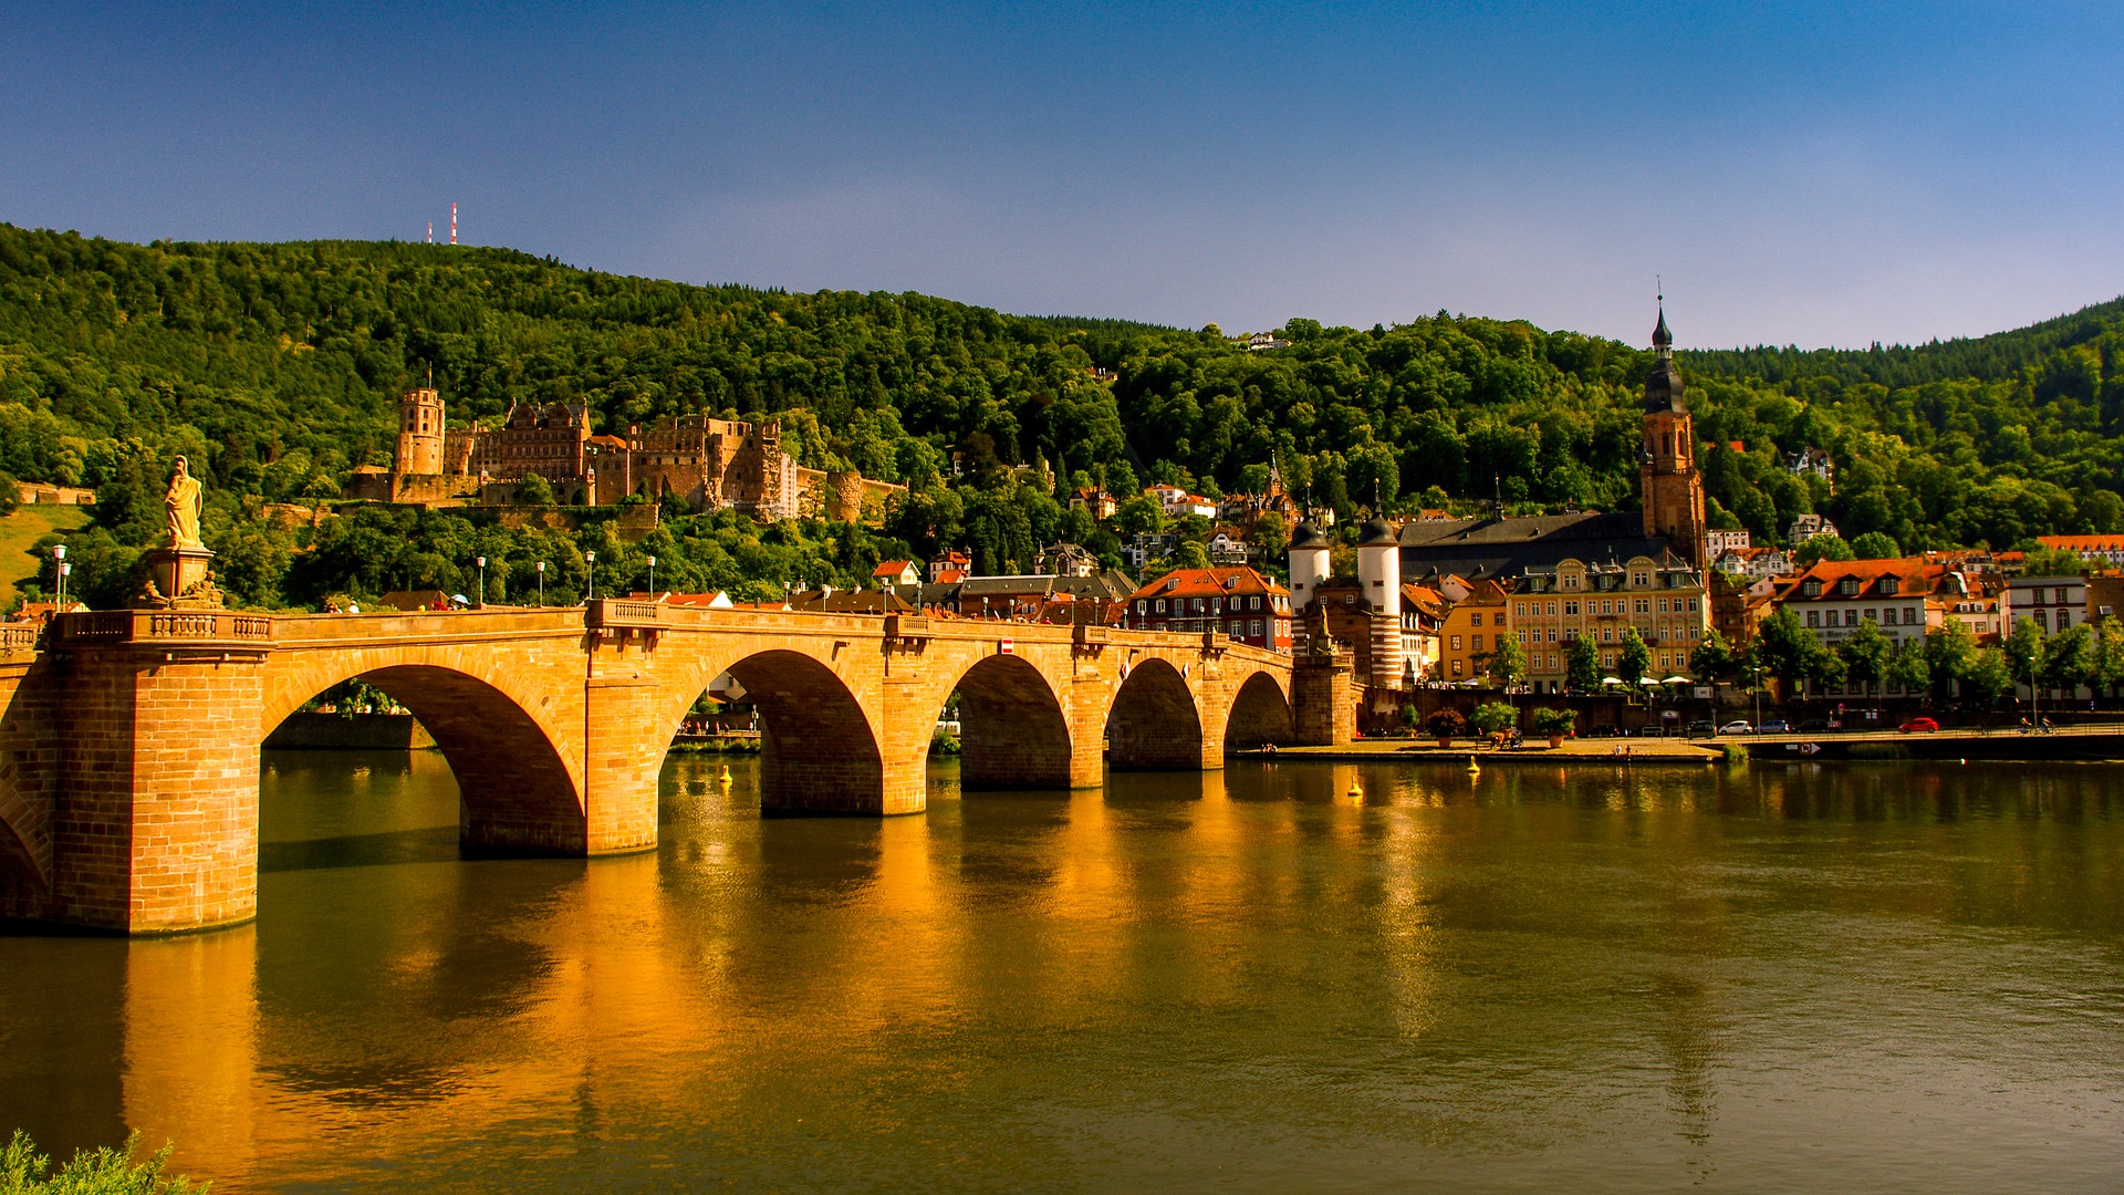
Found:
[[[280,693],[259,719],[261,742],[310,697],[344,680],[384,691],[435,738],[457,776],[459,836],[467,848],[582,855],[588,842],[584,804],[569,761],[523,702],[497,685],[444,663],[372,659],[314,666]]]

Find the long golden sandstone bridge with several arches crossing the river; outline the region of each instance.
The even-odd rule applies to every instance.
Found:
[[[960,693],[962,776],[1092,787],[1349,738],[1347,663],[1219,636],[599,600],[435,615],[102,610],[0,636],[0,916],[115,931],[257,910],[259,744],[359,676],[435,736],[474,853],[656,844],[703,689],[758,704],[765,812],[909,814]],[[1294,685],[1298,706],[1294,710]],[[1300,734],[1306,731],[1306,734]]]

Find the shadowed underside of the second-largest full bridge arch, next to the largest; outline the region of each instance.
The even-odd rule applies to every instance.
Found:
[[[884,757],[871,717],[841,674],[805,651],[767,646],[701,663],[669,693],[661,742],[724,672],[760,710],[760,812],[879,812]]]

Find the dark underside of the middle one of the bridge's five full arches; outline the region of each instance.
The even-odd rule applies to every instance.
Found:
[[[1068,714],[1054,683],[1022,655],[983,655],[958,691],[960,789],[1070,787]]]

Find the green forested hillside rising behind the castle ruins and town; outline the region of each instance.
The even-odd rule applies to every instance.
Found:
[[[1903,549],[2120,529],[2120,327],[2124,304],[2103,304],[1880,353],[1686,353],[1714,519],[1778,540],[1820,508]],[[692,287],[503,249],[0,225],[0,470],[102,485],[181,449],[223,493],[333,493],[389,461],[397,391],[433,376],[452,421],[516,398],[586,402],[599,430],[788,410],[801,459],[915,487],[898,527],[915,549],[962,532],[954,495],[1015,487],[996,466],[1037,459],[1064,485],[1215,491],[1274,457],[1344,515],[1374,495],[1635,506],[1644,349],[1444,313],[1281,336],[1249,353],[1215,327]],[[1803,447],[1831,451],[1835,493],[1786,472]],[[969,470],[947,487],[954,449]]]

